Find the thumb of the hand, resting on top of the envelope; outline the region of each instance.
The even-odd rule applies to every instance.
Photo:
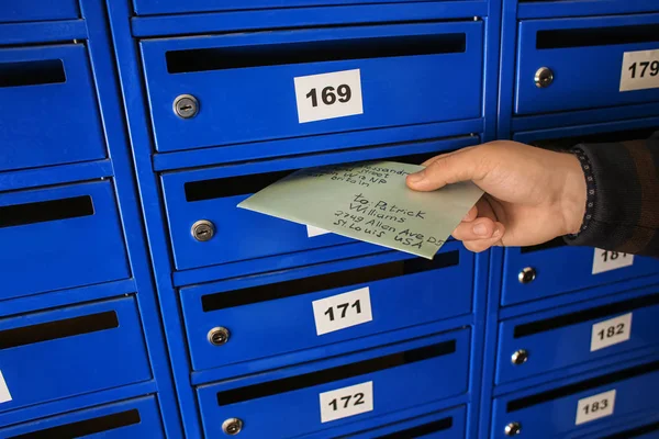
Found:
[[[473,180],[480,161],[480,148],[469,148],[437,157],[427,168],[407,176],[406,183],[415,191],[434,191],[446,184]]]

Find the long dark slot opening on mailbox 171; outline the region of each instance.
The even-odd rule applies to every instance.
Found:
[[[201,305],[203,312],[208,313],[234,306],[249,305],[276,299],[293,297],[316,291],[326,291],[358,283],[381,281],[395,277],[455,267],[458,266],[459,262],[459,250],[451,250],[438,254],[433,260],[421,258],[404,259],[279,283],[206,294],[201,296]]]

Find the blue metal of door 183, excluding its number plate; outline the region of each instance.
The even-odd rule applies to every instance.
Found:
[[[577,432],[580,429],[597,425],[603,428],[607,424],[634,413],[656,413],[659,371],[650,370],[634,376],[625,375],[626,372],[634,370],[634,367],[643,365],[644,362],[648,364],[652,360],[657,360],[657,357],[646,357],[643,361],[635,363],[617,364],[615,368],[603,369],[588,375],[499,397],[493,405],[493,427],[490,437],[505,438],[504,427],[510,421],[520,423],[526,437],[544,438],[561,437],[560,435]],[[615,372],[619,372],[621,375],[613,378],[613,381],[608,380],[606,373]],[[602,384],[599,384],[596,380],[588,381],[597,376],[607,376],[607,380]],[[616,391],[616,395],[612,415],[576,425],[579,399],[613,390]],[[537,395],[541,395],[541,397]],[[525,397],[528,399],[522,399]],[[511,403],[513,405],[509,407],[507,405]]]

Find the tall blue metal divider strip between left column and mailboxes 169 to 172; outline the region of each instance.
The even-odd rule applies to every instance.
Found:
[[[96,91],[101,102],[105,139],[116,177],[118,204],[123,219],[131,269],[137,288],[136,297],[142,326],[154,379],[157,382],[157,402],[163,414],[166,435],[176,439],[182,437],[181,417],[149,263],[148,244],[143,226],[132,148],[126,133],[109,16],[102,1],[82,0],[81,8],[89,25],[89,53],[92,71],[98,78]]]

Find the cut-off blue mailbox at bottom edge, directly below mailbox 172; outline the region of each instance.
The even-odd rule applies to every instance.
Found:
[[[372,428],[372,421],[361,431],[349,435],[332,436],[334,439],[465,439],[466,407],[460,406],[450,410],[418,416],[401,423],[389,423],[382,419],[381,427]],[[369,428],[370,427],[370,428]]]

